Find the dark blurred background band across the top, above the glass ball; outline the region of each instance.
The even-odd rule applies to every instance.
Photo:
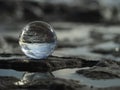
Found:
[[[1,0],[0,23],[47,22],[119,23],[120,0]]]

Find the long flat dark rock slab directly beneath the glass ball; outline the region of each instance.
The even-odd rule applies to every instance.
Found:
[[[64,68],[80,68],[94,66],[98,61],[89,61],[77,57],[51,56],[45,60],[32,60],[28,58],[1,58],[0,69],[14,69],[17,71],[48,72]]]

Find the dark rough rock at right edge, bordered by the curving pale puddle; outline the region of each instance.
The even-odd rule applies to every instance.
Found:
[[[90,69],[78,70],[77,73],[92,79],[120,78],[120,64],[111,60],[100,61]]]

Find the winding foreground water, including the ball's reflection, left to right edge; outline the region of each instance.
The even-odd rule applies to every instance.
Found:
[[[101,79],[101,80],[94,80],[90,78],[86,78],[83,75],[76,74],[77,70],[80,69],[89,69],[86,68],[74,68],[74,69],[61,69],[57,71],[51,72],[21,72],[15,71],[11,69],[0,69],[0,76],[4,77],[15,77],[19,79],[19,81],[15,82],[15,85],[28,85],[33,83],[36,80],[45,80],[54,78],[64,78],[64,79],[73,79],[80,81],[81,84],[85,84],[88,86],[95,86],[95,87],[112,87],[112,86],[119,86],[120,79]]]

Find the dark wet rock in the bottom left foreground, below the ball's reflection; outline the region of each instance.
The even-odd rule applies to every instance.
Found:
[[[33,82],[27,83],[22,86],[15,85],[15,82],[17,81],[18,79],[13,77],[0,77],[0,88],[11,90],[12,89],[76,90],[76,88],[80,88],[83,86],[79,85],[77,81],[59,78],[34,80]]]

